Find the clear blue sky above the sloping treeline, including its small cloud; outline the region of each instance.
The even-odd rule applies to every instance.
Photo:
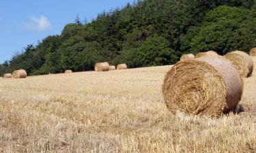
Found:
[[[0,63],[10,60],[28,44],[60,34],[76,15],[82,21],[90,21],[104,10],[108,12],[127,3],[134,0],[1,0]]]

